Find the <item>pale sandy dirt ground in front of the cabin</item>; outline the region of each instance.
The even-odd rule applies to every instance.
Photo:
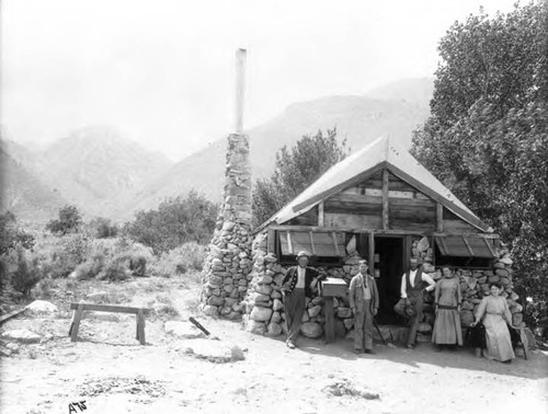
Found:
[[[376,355],[356,356],[349,340],[333,344],[252,335],[240,323],[196,311],[197,284],[138,279],[118,286],[132,304],[168,301],[179,315],[147,320],[147,345],[135,340],[135,317],[119,322],[87,319],[79,342],[67,336],[68,302],[88,285],[50,299],[56,318],[18,318],[2,331],[28,329],[44,340],[21,345],[1,361],[2,413],[547,413],[548,355],[501,364],[476,358],[472,349],[436,353],[430,344],[409,350],[376,344]],[[127,294],[127,295],[129,295]],[[129,304],[128,303],[128,304]],[[195,341],[165,334],[165,320],[194,315],[221,344],[238,345],[244,360],[198,359],[185,348]],[[85,407],[71,403],[84,401]],[[72,409],[71,409],[72,407]]]

